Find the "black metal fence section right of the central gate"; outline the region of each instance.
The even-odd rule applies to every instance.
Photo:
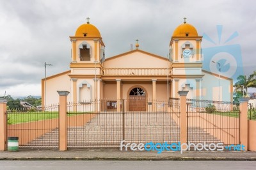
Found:
[[[232,102],[187,99],[188,142],[239,144],[240,111]]]

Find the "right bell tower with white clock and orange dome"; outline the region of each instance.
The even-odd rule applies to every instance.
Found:
[[[179,90],[188,90],[188,98],[200,98],[202,75],[202,36],[196,28],[186,22],[178,26],[170,41],[172,60],[172,97],[178,97]]]

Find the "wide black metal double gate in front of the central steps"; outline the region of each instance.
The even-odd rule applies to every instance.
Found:
[[[120,112],[116,110],[118,104]],[[121,141],[177,143],[180,141],[179,102],[173,102],[177,112],[170,110],[168,104],[140,101],[138,111],[129,111],[129,100],[68,104],[68,148],[118,147]]]

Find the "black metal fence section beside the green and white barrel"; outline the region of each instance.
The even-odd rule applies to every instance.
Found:
[[[8,110],[8,137],[19,137],[21,149],[58,149],[58,107],[58,105],[49,105],[42,109]]]

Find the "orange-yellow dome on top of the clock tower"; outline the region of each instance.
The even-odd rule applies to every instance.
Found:
[[[198,36],[198,33],[194,26],[184,23],[173,31],[172,36]]]

